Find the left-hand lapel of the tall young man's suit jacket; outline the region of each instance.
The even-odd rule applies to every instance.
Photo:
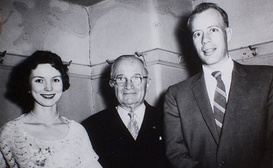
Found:
[[[210,130],[216,144],[218,144],[219,135],[216,128],[214,115],[209,103],[203,71],[200,72],[193,81],[192,91],[199,106],[200,112],[202,113],[202,116],[205,120],[205,123]]]

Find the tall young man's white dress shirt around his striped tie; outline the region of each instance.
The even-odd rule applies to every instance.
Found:
[[[211,105],[211,109],[213,111],[213,102],[214,102],[214,92],[216,89],[217,81],[216,79],[211,75],[214,71],[221,71],[221,79],[224,82],[225,90],[226,90],[226,101],[228,101],[228,94],[230,90],[230,83],[231,83],[231,75],[233,70],[233,61],[231,57],[229,56],[227,61],[221,66],[220,69],[210,69],[203,65],[203,71],[204,71],[204,77],[205,77],[205,86],[206,91],[208,94],[209,102]]]

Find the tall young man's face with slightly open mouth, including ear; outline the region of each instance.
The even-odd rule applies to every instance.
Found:
[[[207,9],[191,20],[195,50],[207,67],[217,69],[228,59],[227,42],[231,28],[226,27],[220,13]]]

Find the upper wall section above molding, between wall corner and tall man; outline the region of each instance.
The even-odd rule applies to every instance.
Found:
[[[181,52],[178,29],[191,0],[105,0],[88,8],[91,63],[162,48]]]

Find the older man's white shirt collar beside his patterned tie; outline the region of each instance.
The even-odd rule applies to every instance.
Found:
[[[127,127],[128,123],[130,121],[130,116],[128,115],[129,111],[123,109],[121,106],[117,106],[116,109],[117,109],[123,123]],[[142,124],[142,121],[144,118],[145,109],[146,109],[146,106],[144,105],[144,103],[142,103],[142,105],[140,105],[139,108],[137,108],[136,111],[134,112],[135,113],[134,117],[136,119],[139,129],[141,127],[141,124]]]

